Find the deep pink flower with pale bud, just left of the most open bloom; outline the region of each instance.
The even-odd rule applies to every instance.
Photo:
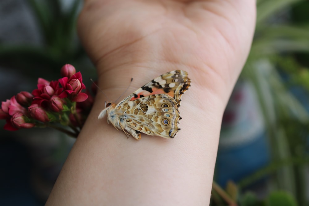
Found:
[[[32,95],[34,95],[32,104],[38,104],[44,108],[49,106],[50,98],[53,95],[59,95],[63,92],[63,88],[60,88],[58,81],[48,82],[39,78],[37,86],[38,88],[32,91]]]

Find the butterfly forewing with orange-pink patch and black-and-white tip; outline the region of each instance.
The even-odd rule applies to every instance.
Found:
[[[159,77],[148,82],[133,94],[129,95],[123,99],[120,103],[116,105],[119,107],[126,101],[133,101],[155,94],[166,94],[173,98],[178,107],[180,106],[181,95],[184,94],[186,90],[191,85],[191,80],[188,78],[188,73],[183,70],[174,70],[160,75]]]

